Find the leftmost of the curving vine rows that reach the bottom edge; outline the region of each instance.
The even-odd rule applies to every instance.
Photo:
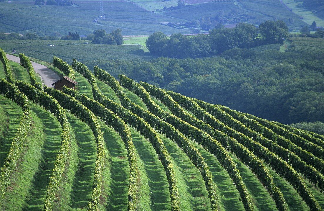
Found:
[[[65,110],[52,96],[23,81],[17,81],[16,85],[19,90],[29,98],[29,100],[52,113],[60,122],[62,127],[61,148],[56,156],[50,182],[47,186],[46,199],[44,201],[44,210],[52,210],[55,194],[60,186],[65,164],[68,159],[70,126],[65,115]]]

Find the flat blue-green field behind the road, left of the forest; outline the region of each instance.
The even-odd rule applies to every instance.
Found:
[[[141,43],[143,41],[141,40]],[[23,53],[26,56],[47,62],[52,62],[53,56],[61,57],[66,61],[71,61],[72,58],[81,61],[97,59],[149,60],[154,58],[151,54],[146,53],[146,48],[146,52],[144,52],[142,49],[144,47],[139,45],[98,45],[85,44],[86,42],[64,40],[1,40],[0,47],[8,53],[12,52],[12,49],[15,49],[17,54]],[[131,40],[131,43],[134,42],[136,41]]]

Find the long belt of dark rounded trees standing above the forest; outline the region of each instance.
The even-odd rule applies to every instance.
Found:
[[[146,47],[156,56],[198,58],[214,56],[235,47],[251,48],[262,44],[283,43],[287,36],[288,27],[283,21],[266,21],[259,28],[252,24],[238,23],[233,29],[219,25],[209,35],[193,37],[172,34],[168,38],[162,32],[155,32],[147,39]]]

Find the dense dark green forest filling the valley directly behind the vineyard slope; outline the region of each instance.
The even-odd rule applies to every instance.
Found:
[[[117,77],[125,74],[210,103],[280,121],[323,121],[323,52],[279,52],[280,44],[233,48],[217,57],[99,60]],[[268,49],[268,50],[267,50]]]

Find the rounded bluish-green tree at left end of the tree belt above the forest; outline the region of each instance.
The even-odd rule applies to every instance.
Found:
[[[160,32],[154,32],[153,34],[151,34],[147,40],[145,41],[146,47],[148,48],[148,50],[156,55],[156,56],[161,56],[162,55],[162,51],[164,46],[166,45],[167,42],[167,36]]]

